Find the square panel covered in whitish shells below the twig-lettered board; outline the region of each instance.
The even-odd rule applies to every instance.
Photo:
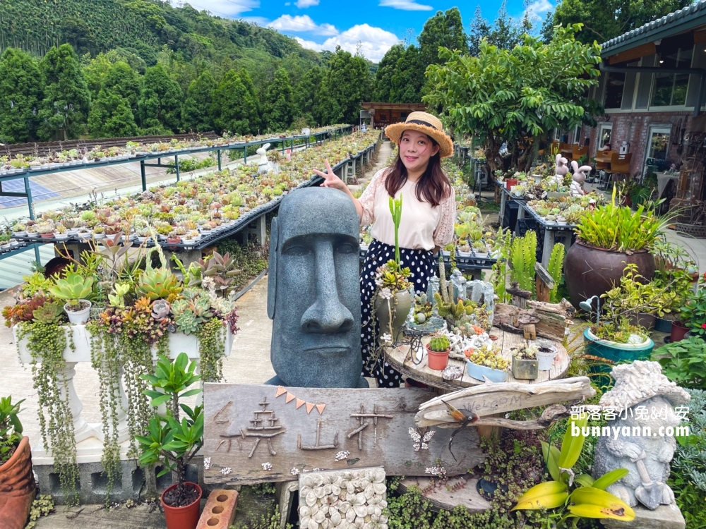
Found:
[[[300,475],[299,528],[388,529],[386,492],[384,468]]]

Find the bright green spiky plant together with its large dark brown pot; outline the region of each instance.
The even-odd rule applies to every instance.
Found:
[[[631,263],[636,271],[651,281],[654,257],[649,250],[666,221],[652,209],[640,205],[633,212],[613,200],[587,212],[575,231],[577,241],[566,253],[564,276],[571,303],[602,294],[620,283],[623,269]]]

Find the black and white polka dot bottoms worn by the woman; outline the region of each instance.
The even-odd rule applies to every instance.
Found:
[[[378,364],[373,366],[371,371],[368,370],[369,360],[375,348],[373,324],[376,336],[379,336],[380,330],[375,315],[371,314],[371,299],[375,294],[375,272],[378,267],[390,259],[395,259],[395,247],[373,239],[368,247],[368,253],[365,255],[360,274],[360,351],[363,356],[363,376],[375,377],[378,381],[378,387],[400,387],[400,382],[402,382],[400,372],[390,367],[382,358],[378,360]],[[400,263],[402,268],[407,267],[412,272],[409,281],[412,281],[417,293],[426,292],[429,279],[434,275],[436,269],[436,260],[431,250],[400,248]]]

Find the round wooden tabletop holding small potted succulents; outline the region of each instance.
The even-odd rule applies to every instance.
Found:
[[[493,327],[490,332],[491,336],[498,336],[496,344],[502,347],[501,355],[508,362],[512,361],[512,351],[514,347],[519,347],[522,343],[525,343],[525,338],[522,334],[515,334],[512,332],[506,332],[497,327]],[[405,336],[407,338],[407,336]],[[426,345],[429,343],[430,336],[424,336],[421,339],[422,343]],[[515,379],[513,373],[510,371],[508,373],[508,379],[505,382],[524,382],[526,384],[537,384],[537,382],[546,382],[547,380],[555,380],[566,377],[566,372],[569,368],[569,355],[566,353],[566,348],[557,341],[552,341],[557,349],[556,356],[554,357],[554,365],[552,365],[549,371],[540,371],[539,377],[535,380],[525,380],[525,379]],[[398,347],[386,347],[385,348],[385,361],[394,367],[397,371],[401,372],[409,378],[417,380],[427,384],[428,386],[442,389],[445,391],[456,391],[464,387],[475,386],[477,384],[483,384],[484,381],[474,379],[468,375],[466,369],[465,360],[455,360],[454,358],[448,359],[448,365],[457,365],[462,368],[463,376],[460,379],[454,380],[444,380],[441,378],[441,371],[429,369],[429,364],[427,363],[427,357],[421,359],[421,363],[414,365],[412,362],[412,354],[409,351],[409,344],[398,346]],[[509,370],[509,367],[508,367]]]

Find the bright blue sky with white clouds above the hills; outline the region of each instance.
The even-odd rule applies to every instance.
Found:
[[[188,3],[217,16],[243,18],[275,28],[317,51],[333,50],[338,44],[354,52],[360,42],[363,54],[374,62],[380,61],[385,51],[402,39],[416,43],[424,23],[436,11],[459,7],[468,30],[479,4],[451,0],[194,0]],[[500,6],[501,0],[482,2],[484,18],[494,20]],[[553,7],[554,0],[533,0],[527,5],[538,24]],[[510,16],[520,18],[524,11],[522,0],[508,0]]]

